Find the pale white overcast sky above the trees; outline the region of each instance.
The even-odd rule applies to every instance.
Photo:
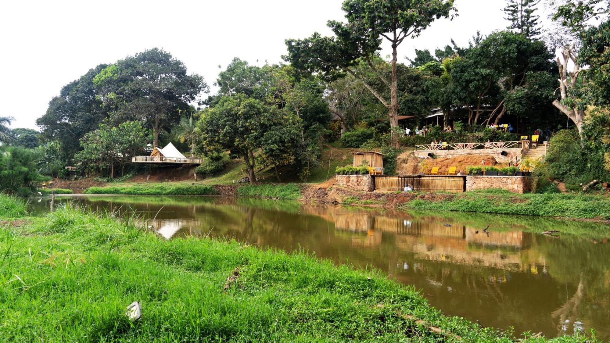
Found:
[[[4,1],[0,5],[0,116],[11,128],[34,128],[49,100],[99,63],[113,63],[155,46],[182,60],[189,73],[211,86],[218,65],[233,57],[250,63],[281,61],[285,38],[314,31],[329,35],[326,21],[343,20],[342,0],[232,1]],[[505,0],[456,0],[459,16],[439,20],[421,37],[403,42],[399,56],[414,48],[467,45],[477,30],[503,29]],[[385,57],[387,51],[382,52]],[[213,91],[213,90],[212,90]]]

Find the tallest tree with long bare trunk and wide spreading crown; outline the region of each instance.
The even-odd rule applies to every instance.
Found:
[[[342,9],[347,23],[329,21],[328,26],[336,37],[322,37],[317,32],[312,37],[286,41],[292,65],[299,70],[318,71],[327,79],[345,73],[363,81],[367,89],[388,110],[390,125],[398,126],[398,46],[407,37],[420,34],[432,21],[450,16],[453,0],[346,0]],[[392,49],[389,78],[379,72],[374,63],[387,40]],[[382,96],[366,82],[366,76],[354,70],[361,60],[368,63],[382,84],[389,89],[389,96]],[[392,135],[398,144],[398,132]]]

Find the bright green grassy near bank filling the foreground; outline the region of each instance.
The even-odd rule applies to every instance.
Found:
[[[74,208],[13,223],[0,225],[0,341],[513,339],[442,316],[378,272],[304,254],[163,240],[133,218]],[[132,301],[136,323],[124,315]]]

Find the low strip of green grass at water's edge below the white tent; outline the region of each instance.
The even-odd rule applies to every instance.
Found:
[[[211,186],[201,184],[134,184],[129,186],[90,187],[86,194],[127,195],[216,195]]]

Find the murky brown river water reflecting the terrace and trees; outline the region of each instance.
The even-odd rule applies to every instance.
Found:
[[[421,289],[445,314],[485,326],[550,336],[595,328],[598,338],[610,338],[608,226],[226,198],[76,201],[93,209],[134,211],[166,239],[222,236],[370,265]],[[47,205],[34,206],[45,211]],[[489,234],[482,232],[487,225]],[[559,229],[561,237],[539,234],[548,229]]]

